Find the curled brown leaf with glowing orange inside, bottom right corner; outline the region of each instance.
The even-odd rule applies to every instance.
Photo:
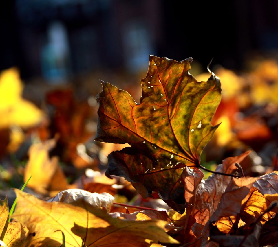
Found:
[[[196,233],[202,237],[202,246],[206,246],[208,236],[221,246],[238,245],[247,234],[248,238],[242,246],[258,246],[261,223],[264,224],[264,221],[273,217],[271,212],[278,212],[274,208],[264,213],[270,203],[277,200],[277,178],[277,172],[259,178],[233,178],[201,234]],[[260,217],[260,222],[252,233],[249,231],[250,226],[258,217]]]

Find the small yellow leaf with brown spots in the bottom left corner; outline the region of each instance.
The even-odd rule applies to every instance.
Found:
[[[0,200],[0,240],[7,246],[23,246],[28,235],[28,229],[21,222],[8,222],[9,208],[7,197]]]

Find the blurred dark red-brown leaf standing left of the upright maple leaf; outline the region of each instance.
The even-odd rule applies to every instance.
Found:
[[[96,169],[98,162],[86,153],[83,144],[95,134],[95,128],[88,127],[88,123],[92,125],[92,108],[88,101],[77,102],[72,89],[57,89],[47,93],[46,102],[55,109],[50,116],[51,131],[53,136],[60,135],[58,147],[62,160],[72,162],[78,169],[89,166]]]

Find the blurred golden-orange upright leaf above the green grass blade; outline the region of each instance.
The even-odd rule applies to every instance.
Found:
[[[48,152],[56,145],[55,139],[33,144],[29,149],[29,160],[24,171],[24,181],[30,176],[28,187],[42,194],[56,195],[68,189],[65,174],[58,164],[58,157],[49,158]]]

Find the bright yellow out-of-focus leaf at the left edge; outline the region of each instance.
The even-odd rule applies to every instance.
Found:
[[[43,113],[34,104],[22,99],[23,85],[17,69],[0,74],[0,128],[19,125],[22,128],[39,124]]]

